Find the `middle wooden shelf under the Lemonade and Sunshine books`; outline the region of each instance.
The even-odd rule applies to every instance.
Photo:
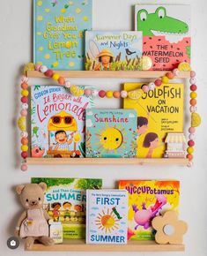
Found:
[[[28,165],[187,165],[186,158],[26,158]]]

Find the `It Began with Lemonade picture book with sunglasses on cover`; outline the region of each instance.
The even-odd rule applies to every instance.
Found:
[[[31,87],[32,157],[85,157],[85,109],[92,105],[92,96],[65,87]]]

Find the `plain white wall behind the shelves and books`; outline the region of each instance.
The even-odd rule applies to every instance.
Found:
[[[61,1],[61,0],[59,0]],[[185,236],[186,252],[140,253],[140,255],[188,255],[204,256],[207,252],[207,204],[206,204],[206,95],[207,94],[207,54],[206,54],[206,0],[191,0],[192,4],[192,66],[197,72],[198,111],[203,116],[203,125],[196,132],[196,153],[194,167],[158,167],[153,166],[33,166],[26,173],[18,168],[19,145],[16,119],[19,112],[18,79],[22,65],[31,61],[32,52],[32,0],[0,0],[0,255],[24,255],[23,247],[11,251],[6,240],[16,225],[21,207],[13,187],[30,181],[30,177],[102,177],[105,187],[115,185],[117,178],[174,178],[181,180],[181,218],[189,223],[189,232]],[[133,29],[132,5],[137,0],[94,0],[94,29]],[[146,1],[143,1],[146,3]],[[148,1],[149,2],[149,1]],[[158,1],[151,1],[152,4]],[[163,1],[162,3],[186,4],[186,1]],[[150,2],[149,2],[150,3]],[[159,2],[161,3],[161,2]],[[88,80],[88,83],[105,87],[122,80]],[[41,82],[41,81],[40,81]],[[76,79],[76,83],[83,80]],[[60,252],[53,255],[103,255],[103,253]],[[30,252],[31,256],[35,253]],[[40,252],[39,255],[43,253]],[[44,253],[49,255],[48,252]],[[119,253],[119,255],[124,253]],[[136,253],[137,254],[137,253]],[[107,253],[115,255],[115,252]],[[126,253],[125,255],[129,255]],[[131,253],[133,255],[133,253]],[[134,253],[135,255],[135,253]]]

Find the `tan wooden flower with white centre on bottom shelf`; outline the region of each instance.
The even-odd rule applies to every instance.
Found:
[[[152,227],[157,231],[155,241],[159,245],[181,245],[182,237],[188,230],[187,223],[178,220],[174,211],[167,211],[163,216],[155,217]]]

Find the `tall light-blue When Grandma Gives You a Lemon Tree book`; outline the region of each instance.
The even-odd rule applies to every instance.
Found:
[[[92,0],[33,0],[33,62],[54,70],[84,70],[85,30]]]

